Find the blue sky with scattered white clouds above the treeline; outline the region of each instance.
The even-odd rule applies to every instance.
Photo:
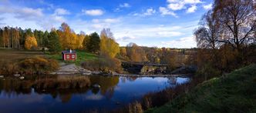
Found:
[[[110,28],[116,42],[196,47],[193,32],[212,0],[0,0],[0,27],[50,30],[62,22],[90,34]]]

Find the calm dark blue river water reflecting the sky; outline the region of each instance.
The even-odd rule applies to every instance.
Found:
[[[189,80],[174,77],[103,76],[89,76],[89,79],[93,85],[101,87],[72,90],[13,90],[15,86],[8,83],[10,81],[0,81],[0,112],[76,112],[96,109],[108,111],[139,100],[148,92],[175,87]]]

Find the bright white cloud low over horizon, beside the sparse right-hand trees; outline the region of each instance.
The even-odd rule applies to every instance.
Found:
[[[170,42],[161,42],[163,45],[169,46],[171,48],[194,48],[197,47],[197,43],[193,36],[184,37]]]

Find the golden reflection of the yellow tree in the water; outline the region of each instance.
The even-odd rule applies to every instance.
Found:
[[[112,98],[115,86],[119,83],[119,77],[93,76],[90,78],[91,84],[99,84],[100,92],[108,98]]]

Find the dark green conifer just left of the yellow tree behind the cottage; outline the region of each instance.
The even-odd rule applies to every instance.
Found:
[[[59,35],[56,31],[52,31],[49,34],[49,52],[57,53],[61,51],[61,45],[59,43]]]

